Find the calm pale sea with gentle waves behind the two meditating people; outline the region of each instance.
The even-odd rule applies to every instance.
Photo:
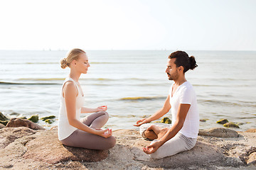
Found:
[[[170,81],[165,73],[171,50],[87,51],[90,68],[80,84],[84,106],[107,105],[105,128],[138,129],[133,125],[163,105]],[[256,52],[186,51],[198,67],[186,72],[197,94],[200,128],[221,128],[226,118],[240,129],[256,128]],[[55,115],[58,124],[60,90],[69,69],[60,68],[65,50],[0,50],[0,112],[9,118]],[[81,117],[90,113],[82,114]],[[171,111],[164,115],[171,119]]]

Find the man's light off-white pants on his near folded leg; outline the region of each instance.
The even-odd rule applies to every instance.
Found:
[[[155,141],[151,142],[154,143]],[[150,154],[153,159],[161,159],[163,157],[169,157],[179,152],[192,149],[196,145],[196,138],[186,137],[181,133],[177,133],[171,140],[164,143],[156,152]]]

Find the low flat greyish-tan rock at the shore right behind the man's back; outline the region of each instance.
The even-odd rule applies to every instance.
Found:
[[[199,130],[198,135],[213,137],[238,137],[238,132],[225,128],[210,128],[207,130]]]

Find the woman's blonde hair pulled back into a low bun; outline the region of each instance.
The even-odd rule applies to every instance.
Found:
[[[60,67],[63,69],[65,69],[66,67],[69,67],[70,63],[73,60],[78,60],[80,53],[86,54],[86,52],[84,50],[81,50],[79,48],[74,48],[74,49],[70,50],[67,54],[67,57],[60,60]]]

